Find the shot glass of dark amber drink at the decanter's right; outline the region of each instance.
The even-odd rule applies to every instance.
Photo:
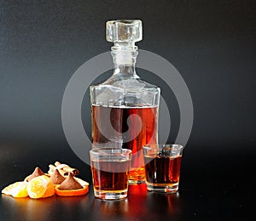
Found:
[[[183,146],[148,144],[143,146],[148,190],[176,193],[178,190]]]

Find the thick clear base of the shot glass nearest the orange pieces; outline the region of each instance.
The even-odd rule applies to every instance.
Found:
[[[119,200],[127,196],[127,190],[94,190],[94,195],[102,200]]]

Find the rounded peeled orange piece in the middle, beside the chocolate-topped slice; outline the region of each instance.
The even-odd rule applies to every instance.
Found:
[[[49,197],[55,194],[54,185],[49,177],[42,175],[27,183],[27,193],[32,199]]]

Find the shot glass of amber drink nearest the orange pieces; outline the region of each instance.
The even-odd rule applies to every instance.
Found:
[[[90,150],[90,169],[94,195],[104,200],[127,196],[131,150],[98,148]]]

